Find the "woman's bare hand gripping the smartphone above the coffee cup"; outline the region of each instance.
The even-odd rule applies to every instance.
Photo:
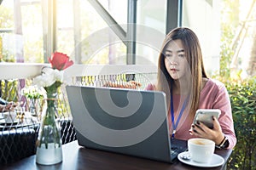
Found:
[[[222,129],[216,117],[212,116],[212,122],[212,129],[202,122],[196,122],[195,124],[192,124],[189,132],[190,134],[195,135],[195,137],[211,139],[216,145],[218,145],[223,141],[224,133],[222,133]]]

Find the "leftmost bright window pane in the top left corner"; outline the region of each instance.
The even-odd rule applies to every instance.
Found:
[[[40,59],[43,54],[40,3],[5,0],[0,8],[1,61],[42,62]]]

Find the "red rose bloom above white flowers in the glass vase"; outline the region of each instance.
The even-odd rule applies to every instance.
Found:
[[[59,52],[51,54],[51,58],[48,58],[48,60],[52,68],[57,69],[59,71],[65,70],[70,65],[73,65],[73,60],[69,60],[67,54],[62,54]]]

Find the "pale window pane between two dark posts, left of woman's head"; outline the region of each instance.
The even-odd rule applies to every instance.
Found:
[[[166,32],[166,0],[137,1],[137,64],[157,64]]]

